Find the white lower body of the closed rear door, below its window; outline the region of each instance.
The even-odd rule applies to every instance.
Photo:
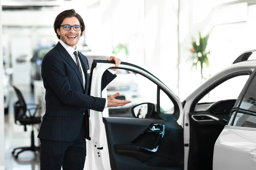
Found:
[[[214,147],[213,170],[255,170],[256,129],[226,126]]]

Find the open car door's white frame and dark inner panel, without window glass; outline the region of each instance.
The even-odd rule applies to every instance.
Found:
[[[109,68],[115,68],[113,61],[93,61],[90,95],[102,97],[102,75]],[[118,69],[133,71],[157,85],[157,89],[154,89],[158,94],[157,103],[155,103],[157,115],[154,114],[149,119],[111,118],[102,117],[102,113],[91,110],[91,140],[87,143],[86,167],[93,170],[182,170],[184,167],[183,108],[180,99],[163,82],[143,68],[122,62]],[[173,115],[161,116],[158,99],[160,89],[172,101]],[[157,125],[153,128],[150,127],[152,124]],[[158,125],[164,127],[161,140],[157,140],[160,136],[158,133],[145,133],[148,127],[154,130],[159,129]],[[136,142],[138,138],[140,140]],[[148,145],[141,145],[143,143],[140,142],[141,140],[147,141]],[[150,148],[152,146],[158,146],[157,150]],[[145,148],[150,148],[151,151]],[[128,154],[129,150],[130,154]],[[153,153],[152,150],[154,150]]]

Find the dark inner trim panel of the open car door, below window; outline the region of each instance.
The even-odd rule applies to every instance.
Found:
[[[115,158],[118,170],[178,170],[183,168],[183,128],[177,122],[166,122],[162,119],[133,119],[133,118],[104,118],[104,123],[109,135],[109,150],[111,157]],[[145,141],[151,142],[152,136],[143,136],[143,142],[134,139],[147,129],[152,123],[162,124],[165,127],[163,139],[155,153],[135,150],[143,144],[149,148]],[[154,139],[154,137],[153,137]],[[154,142],[153,142],[154,145]],[[120,152],[120,148],[127,147],[130,156]],[[132,154],[134,152],[134,154]],[[136,153],[135,153],[136,152]],[[120,154],[121,153],[121,154]],[[132,167],[131,167],[131,166]],[[113,170],[113,169],[112,169]]]

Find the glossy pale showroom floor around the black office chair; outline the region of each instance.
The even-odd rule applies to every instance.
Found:
[[[18,87],[26,102],[33,103],[34,96],[29,88]],[[31,126],[27,126],[27,131],[24,131],[24,126],[16,125],[14,122],[13,103],[17,101],[17,96],[11,89],[9,114],[5,115],[5,167],[6,170],[40,170],[40,161],[38,154],[31,151],[20,153],[17,161],[12,157],[12,150],[15,147],[30,146]],[[34,129],[35,131],[35,129]],[[38,139],[35,133],[35,144],[38,145]]]

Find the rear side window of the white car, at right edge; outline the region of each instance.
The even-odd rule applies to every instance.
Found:
[[[238,113],[232,115],[235,116],[233,126],[256,128],[256,78],[253,79],[246,91]],[[232,115],[230,122],[233,121]],[[230,122],[228,125],[231,125]]]

